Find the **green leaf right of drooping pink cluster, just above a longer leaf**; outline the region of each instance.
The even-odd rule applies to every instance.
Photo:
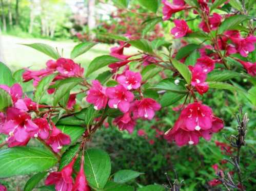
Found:
[[[222,82],[238,76],[240,76],[240,74],[235,71],[221,70],[209,73],[206,81]]]

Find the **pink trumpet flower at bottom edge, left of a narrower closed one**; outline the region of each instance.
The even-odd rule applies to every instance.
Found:
[[[56,191],[72,191],[73,188],[73,165],[75,158],[66,165],[60,172],[52,172],[45,180],[45,185],[55,184]]]

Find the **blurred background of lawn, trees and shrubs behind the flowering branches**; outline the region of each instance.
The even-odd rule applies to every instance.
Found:
[[[78,42],[101,42],[75,60],[86,69],[93,58],[108,54],[110,48],[116,45],[113,39],[104,34],[129,35],[132,39],[142,36],[141,31],[145,27],[143,21],[147,19],[143,13],[147,9],[140,7],[136,0],[132,1],[129,9],[120,8],[119,1],[0,0],[0,60],[13,71],[24,67],[40,69],[50,58],[22,44],[46,43],[57,47],[63,57],[68,57]],[[191,18],[190,15],[186,16]],[[199,21],[189,22],[189,28],[198,30],[198,24]],[[155,25],[144,38],[151,41],[164,37],[174,42],[170,35],[171,26],[171,22]],[[245,89],[251,87],[248,81],[240,77],[235,78],[234,83]],[[250,122],[247,146],[242,150],[241,160],[242,167],[246,169],[245,186],[247,190],[253,190],[256,184],[256,163],[252,162],[256,159],[256,103],[250,102],[243,93],[212,89],[201,100],[212,107],[216,116],[225,119],[224,130],[215,134],[209,142],[201,139],[198,146],[179,148],[163,139],[164,132],[173,126],[179,116],[178,106],[181,103],[176,103],[157,112],[154,120],[139,121],[132,134],[120,132],[105,123],[104,128],[96,133],[91,146],[104,149],[111,155],[112,173],[121,169],[145,173],[133,184],[168,184],[167,173],[171,181],[175,178],[184,180],[182,190],[220,190],[208,184],[208,181],[216,178],[211,166],[218,163],[223,170],[233,170],[231,165],[222,163],[222,159],[229,158],[233,152],[222,134],[230,136],[236,133],[235,113],[243,105]],[[9,185],[9,190],[16,190],[17,187],[23,188],[29,177],[3,179],[0,183]]]

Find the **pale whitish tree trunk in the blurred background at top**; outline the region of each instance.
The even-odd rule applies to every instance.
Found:
[[[95,19],[95,0],[88,0],[88,28],[90,39],[93,39],[95,35],[92,30],[96,27]]]

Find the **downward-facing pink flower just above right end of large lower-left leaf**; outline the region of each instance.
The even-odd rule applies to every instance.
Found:
[[[52,124],[52,127],[52,132],[46,143],[57,153],[61,151],[63,145],[69,145],[71,139],[69,135],[64,134],[60,129],[57,129],[54,124]]]

